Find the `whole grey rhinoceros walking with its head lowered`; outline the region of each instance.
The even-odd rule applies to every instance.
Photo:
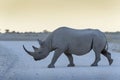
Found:
[[[84,29],[76,30],[67,27],[61,27],[53,31],[46,40],[40,42],[41,47],[35,52],[28,52],[35,60],[44,59],[51,51],[55,51],[48,68],[54,68],[55,62],[59,56],[64,53],[69,60],[68,67],[75,66],[72,54],[81,56],[87,54],[92,49],[95,52],[95,61],[91,66],[97,66],[100,61],[100,54],[103,54],[112,64],[111,54],[106,50],[107,40],[99,30]]]

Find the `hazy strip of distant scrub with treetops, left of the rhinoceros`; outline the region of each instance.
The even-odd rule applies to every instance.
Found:
[[[37,39],[45,39],[50,34],[49,31],[43,32],[16,32],[5,30],[5,33],[0,33],[0,41],[35,41]]]

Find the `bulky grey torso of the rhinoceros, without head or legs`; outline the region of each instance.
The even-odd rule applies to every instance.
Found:
[[[67,27],[56,29],[50,35],[52,48],[63,49],[71,54],[83,55],[91,50],[91,46],[102,49],[106,39],[99,30],[84,29],[76,30]],[[92,47],[93,48],[93,47]]]

